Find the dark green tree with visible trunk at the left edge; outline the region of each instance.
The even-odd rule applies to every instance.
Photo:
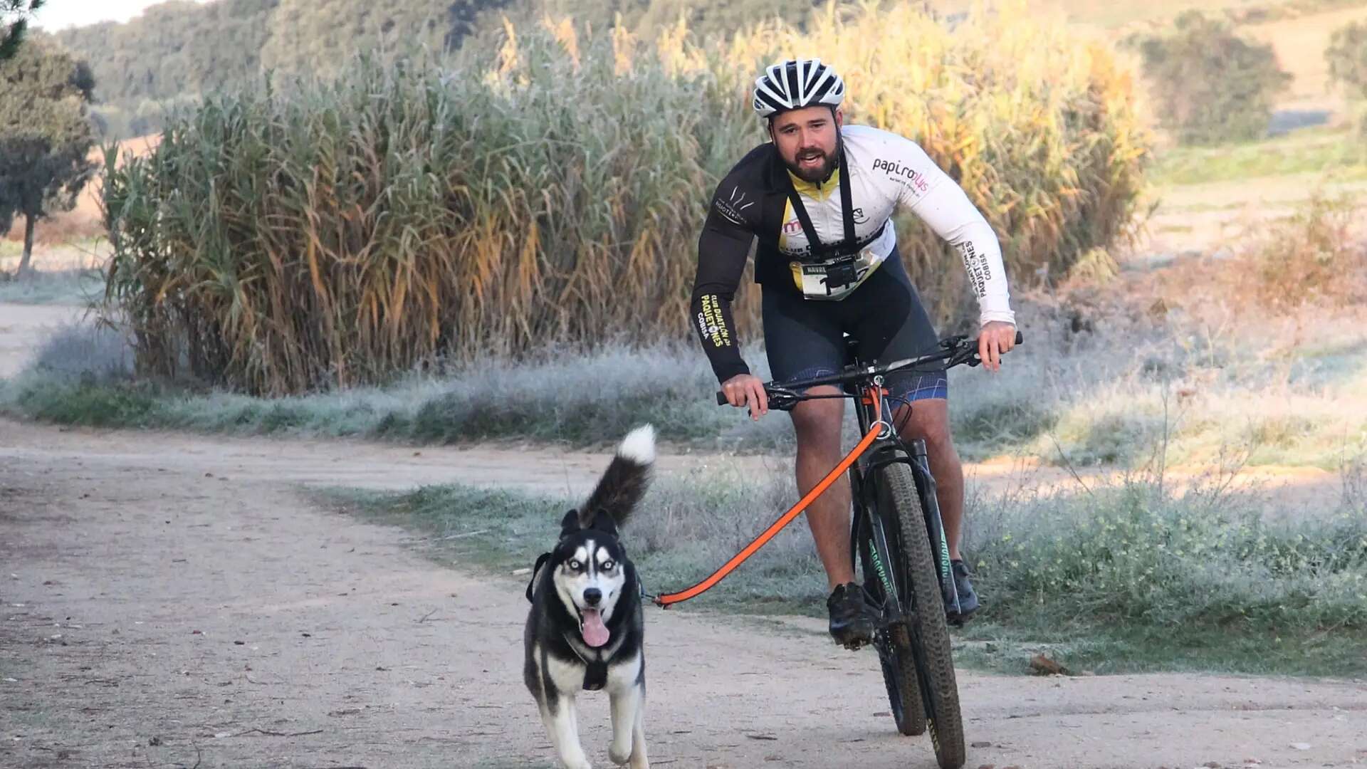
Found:
[[[53,211],[70,211],[96,163],[86,159],[94,127],[86,115],[94,78],[85,62],[42,40],[0,62],[0,231],[25,218],[29,271],[33,230]]]

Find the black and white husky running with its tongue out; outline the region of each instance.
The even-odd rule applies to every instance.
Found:
[[[641,587],[617,527],[645,494],[655,428],[637,427],[617,449],[582,508],[560,521],[560,540],[536,560],[526,598],[522,677],[567,769],[589,769],[574,696],[607,690],[612,707],[608,758],[647,769],[645,650]]]

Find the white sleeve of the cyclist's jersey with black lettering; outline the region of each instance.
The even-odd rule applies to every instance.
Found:
[[[991,320],[1016,323],[1012,296],[1006,286],[1002,246],[991,224],[968,200],[954,179],[942,171],[925,151],[904,140],[904,163],[915,170],[912,183],[904,183],[899,201],[921,218],[936,235],[947,241],[964,259],[968,282],[977,297],[979,324]]]

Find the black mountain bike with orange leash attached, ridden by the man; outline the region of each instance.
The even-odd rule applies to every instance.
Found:
[[[1016,343],[1023,337],[1016,334]],[[924,441],[902,441],[893,426],[887,375],[977,365],[977,341],[950,337],[935,352],[887,364],[860,360],[846,341],[848,365],[828,376],[764,384],[771,409],[789,410],[816,398],[853,398],[863,452],[849,465],[853,516],[850,558],[864,576],[865,602],[875,620],[878,650],[897,729],[927,729],[943,769],[964,765],[964,720],[950,655],[949,621],[962,623]],[[839,384],[839,394],[808,394]],[[905,404],[905,401],[902,401]],[[718,404],[726,397],[718,393]],[[910,404],[906,404],[910,406]],[[858,449],[858,446],[856,447]],[[853,454],[853,452],[852,452]]]

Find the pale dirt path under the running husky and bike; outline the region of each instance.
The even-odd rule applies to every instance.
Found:
[[[299,491],[436,476],[544,488],[529,456],[0,421],[0,765],[550,766],[519,680],[521,583],[437,568],[405,532]],[[562,488],[603,461],[562,460]],[[925,738],[875,716],[872,655],[837,653],[819,625],[692,608],[647,621],[656,766],[934,766]],[[1367,761],[1363,681],[962,675],[960,688],[969,766]],[[582,699],[586,750],[608,765],[606,706]]]

